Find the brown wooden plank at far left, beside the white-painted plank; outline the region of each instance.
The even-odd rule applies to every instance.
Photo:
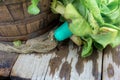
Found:
[[[17,59],[18,54],[7,53],[0,51],[0,76],[7,78],[10,75],[13,64]],[[1,80],[0,77],[0,80]]]

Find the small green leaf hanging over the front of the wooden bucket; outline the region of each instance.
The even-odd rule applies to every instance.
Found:
[[[31,5],[28,7],[28,13],[37,15],[40,12],[40,9],[38,8],[38,3],[40,0],[31,0]]]

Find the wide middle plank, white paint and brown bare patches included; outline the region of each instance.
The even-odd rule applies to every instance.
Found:
[[[81,58],[81,49],[71,42],[47,54],[20,55],[11,79],[18,80],[101,80],[102,53]]]

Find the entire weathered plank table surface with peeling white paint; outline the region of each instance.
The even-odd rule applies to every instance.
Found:
[[[43,54],[0,51],[0,80],[120,80],[119,46],[87,58],[80,53],[72,42]]]

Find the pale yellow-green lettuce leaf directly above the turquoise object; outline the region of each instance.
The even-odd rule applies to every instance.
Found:
[[[69,28],[73,34],[84,36],[92,33],[88,22],[76,11],[72,4],[66,6],[64,16],[66,19],[71,20]]]

